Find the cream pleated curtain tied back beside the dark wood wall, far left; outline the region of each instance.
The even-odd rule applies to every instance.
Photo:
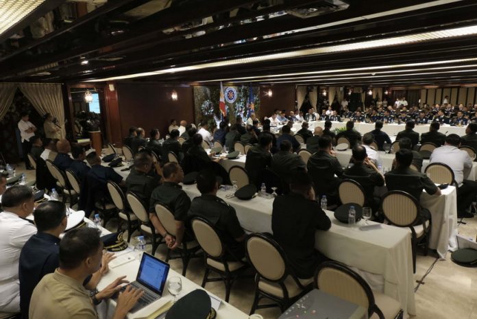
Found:
[[[50,113],[58,119],[58,125],[62,128],[61,137],[64,138],[66,134],[61,84],[20,83],[19,87],[40,115]]]

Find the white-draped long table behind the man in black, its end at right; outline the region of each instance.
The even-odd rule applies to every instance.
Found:
[[[183,189],[190,198],[200,196],[195,185],[183,185]],[[273,200],[262,197],[225,199],[227,193],[220,190],[217,196],[234,207],[238,221],[246,231],[272,233]],[[415,315],[411,232],[389,225],[372,231],[357,231],[335,220],[331,211],[326,213],[332,220],[332,227],[326,232],[317,231],[316,248],[328,257],[360,270],[374,290],[399,300],[404,311]]]

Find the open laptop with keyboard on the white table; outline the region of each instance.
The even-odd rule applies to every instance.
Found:
[[[169,268],[169,263],[165,263],[152,255],[143,253],[136,281],[133,281],[130,285],[134,288],[143,290],[144,294],[140,297],[138,303],[136,303],[130,312],[134,313],[143,309],[162,296],[167,274],[169,274]],[[121,291],[125,290],[126,287],[127,286],[124,286]]]

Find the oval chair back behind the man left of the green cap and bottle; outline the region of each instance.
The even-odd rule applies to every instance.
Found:
[[[191,224],[195,239],[197,239],[202,250],[210,257],[221,257],[223,255],[223,245],[215,228],[201,217],[194,217]]]

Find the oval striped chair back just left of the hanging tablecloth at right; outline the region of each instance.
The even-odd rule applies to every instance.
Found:
[[[389,191],[381,200],[384,217],[395,226],[412,226],[420,215],[420,209],[417,200],[405,191]]]

